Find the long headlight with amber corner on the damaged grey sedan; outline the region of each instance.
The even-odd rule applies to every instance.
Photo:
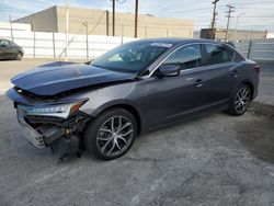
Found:
[[[76,113],[87,101],[85,99],[72,103],[60,103],[46,106],[19,105],[18,107],[24,111],[26,115],[67,118],[69,115]]]

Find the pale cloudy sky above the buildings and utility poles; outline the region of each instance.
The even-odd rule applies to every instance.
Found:
[[[135,0],[116,0],[116,11],[135,11]],[[194,28],[208,27],[213,16],[213,0],[139,0],[139,13],[159,18],[180,18],[194,21]],[[0,0],[0,21],[12,20],[47,9],[65,5],[66,0]],[[217,26],[226,27],[226,4],[235,7],[230,28],[267,30],[274,33],[274,0],[219,0]],[[70,0],[71,7],[112,10],[111,0]],[[237,16],[238,23],[237,23]]]

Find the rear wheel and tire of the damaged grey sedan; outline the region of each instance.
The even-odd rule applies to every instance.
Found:
[[[251,95],[251,88],[248,84],[240,84],[230,99],[228,113],[233,116],[244,114],[250,105]]]

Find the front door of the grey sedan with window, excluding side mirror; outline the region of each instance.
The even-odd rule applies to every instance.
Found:
[[[176,121],[203,105],[199,95],[204,91],[203,72],[199,71],[201,45],[193,44],[179,48],[161,66],[164,65],[180,66],[181,73],[163,78],[152,76],[144,82],[145,92],[148,94],[144,105],[147,105],[149,127]]]

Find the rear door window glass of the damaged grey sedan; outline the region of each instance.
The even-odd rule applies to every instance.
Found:
[[[233,50],[219,45],[206,44],[207,65],[229,62],[233,58]]]

